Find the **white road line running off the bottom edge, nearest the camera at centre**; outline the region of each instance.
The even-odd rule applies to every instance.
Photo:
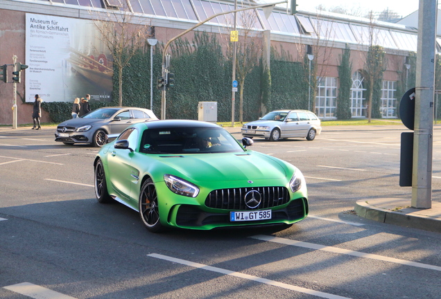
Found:
[[[281,287],[283,289],[288,289],[288,290],[292,290],[292,291],[298,291],[300,293],[306,293],[306,294],[313,295],[313,296],[318,296],[318,297],[321,297],[321,298],[347,299],[347,297],[333,295],[333,294],[330,294],[330,293],[324,293],[324,292],[321,292],[321,291],[314,291],[312,289],[306,289],[304,287],[297,287],[297,286],[294,286],[292,284],[285,284],[283,282],[277,282],[275,280],[268,280],[266,278],[259,278],[259,277],[254,276],[254,275],[248,275],[248,274],[244,274],[244,273],[240,273],[240,272],[235,272],[235,271],[230,271],[230,270],[227,270],[227,269],[222,269],[222,268],[218,268],[218,267],[214,267],[214,266],[208,266],[206,264],[199,264],[199,263],[190,262],[190,261],[187,261],[187,260],[181,260],[181,259],[178,259],[178,258],[175,258],[175,257],[169,257],[167,255],[160,255],[160,254],[157,254],[157,253],[150,253],[147,256],[155,257],[155,258],[158,258],[160,260],[166,260],[168,262],[175,262],[177,264],[183,264],[185,266],[192,266],[192,267],[199,268],[199,269],[204,269],[204,270],[207,270],[207,271],[212,271],[212,272],[216,272],[216,273],[222,273],[222,274],[225,274],[225,275],[231,275],[231,276],[234,276],[236,278],[243,278],[243,279],[246,279],[246,280],[252,280],[254,282],[260,282],[260,283],[263,283],[263,284],[269,284],[269,285],[272,285],[274,287]]]

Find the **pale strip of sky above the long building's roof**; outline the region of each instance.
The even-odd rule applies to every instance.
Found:
[[[365,10],[366,12],[381,12],[389,9],[398,13],[402,17],[410,15],[415,10],[418,10],[420,1],[418,0],[297,0],[297,10],[306,10],[315,12],[316,7],[320,4],[325,8],[332,8],[334,6],[341,6],[347,10]]]

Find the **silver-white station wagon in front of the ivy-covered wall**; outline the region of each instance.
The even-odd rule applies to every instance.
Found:
[[[241,129],[244,137],[262,137],[270,141],[295,137],[313,141],[321,132],[320,119],[308,110],[272,111],[259,120],[245,123]]]

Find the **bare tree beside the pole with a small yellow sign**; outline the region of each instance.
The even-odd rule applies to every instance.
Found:
[[[233,28],[229,24],[231,19],[227,19],[229,29]],[[261,39],[259,32],[252,30],[254,23],[257,22],[255,10],[245,10],[238,14],[238,21],[241,26],[239,30],[239,42],[236,42],[236,75],[239,80],[239,122],[243,123],[243,91],[245,90],[245,79],[259,64],[262,55]],[[230,35],[224,35],[230,38]],[[233,44],[227,42],[227,51],[232,53]],[[228,55],[231,56],[232,55]]]

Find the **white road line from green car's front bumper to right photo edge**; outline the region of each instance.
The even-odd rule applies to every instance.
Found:
[[[330,253],[339,253],[339,254],[345,254],[345,255],[352,255],[355,257],[364,257],[372,260],[381,260],[383,262],[391,262],[395,264],[404,264],[406,266],[415,266],[418,268],[424,268],[424,269],[431,269],[435,271],[441,271],[441,266],[433,266],[430,264],[422,264],[419,262],[410,262],[407,260],[399,260],[394,257],[385,257],[382,255],[374,255],[371,253],[362,253],[360,251],[351,251],[343,248],[333,247],[333,246],[324,246],[320,244],[313,244],[313,243],[307,243],[307,242],[300,242],[292,239],[284,239],[281,237],[272,237],[268,235],[255,235],[250,237],[252,239],[259,239],[261,241],[266,242],[275,242],[278,244],[285,244],[290,246],[298,246],[303,248],[309,248],[313,250],[320,250],[320,251],[327,251]]]

